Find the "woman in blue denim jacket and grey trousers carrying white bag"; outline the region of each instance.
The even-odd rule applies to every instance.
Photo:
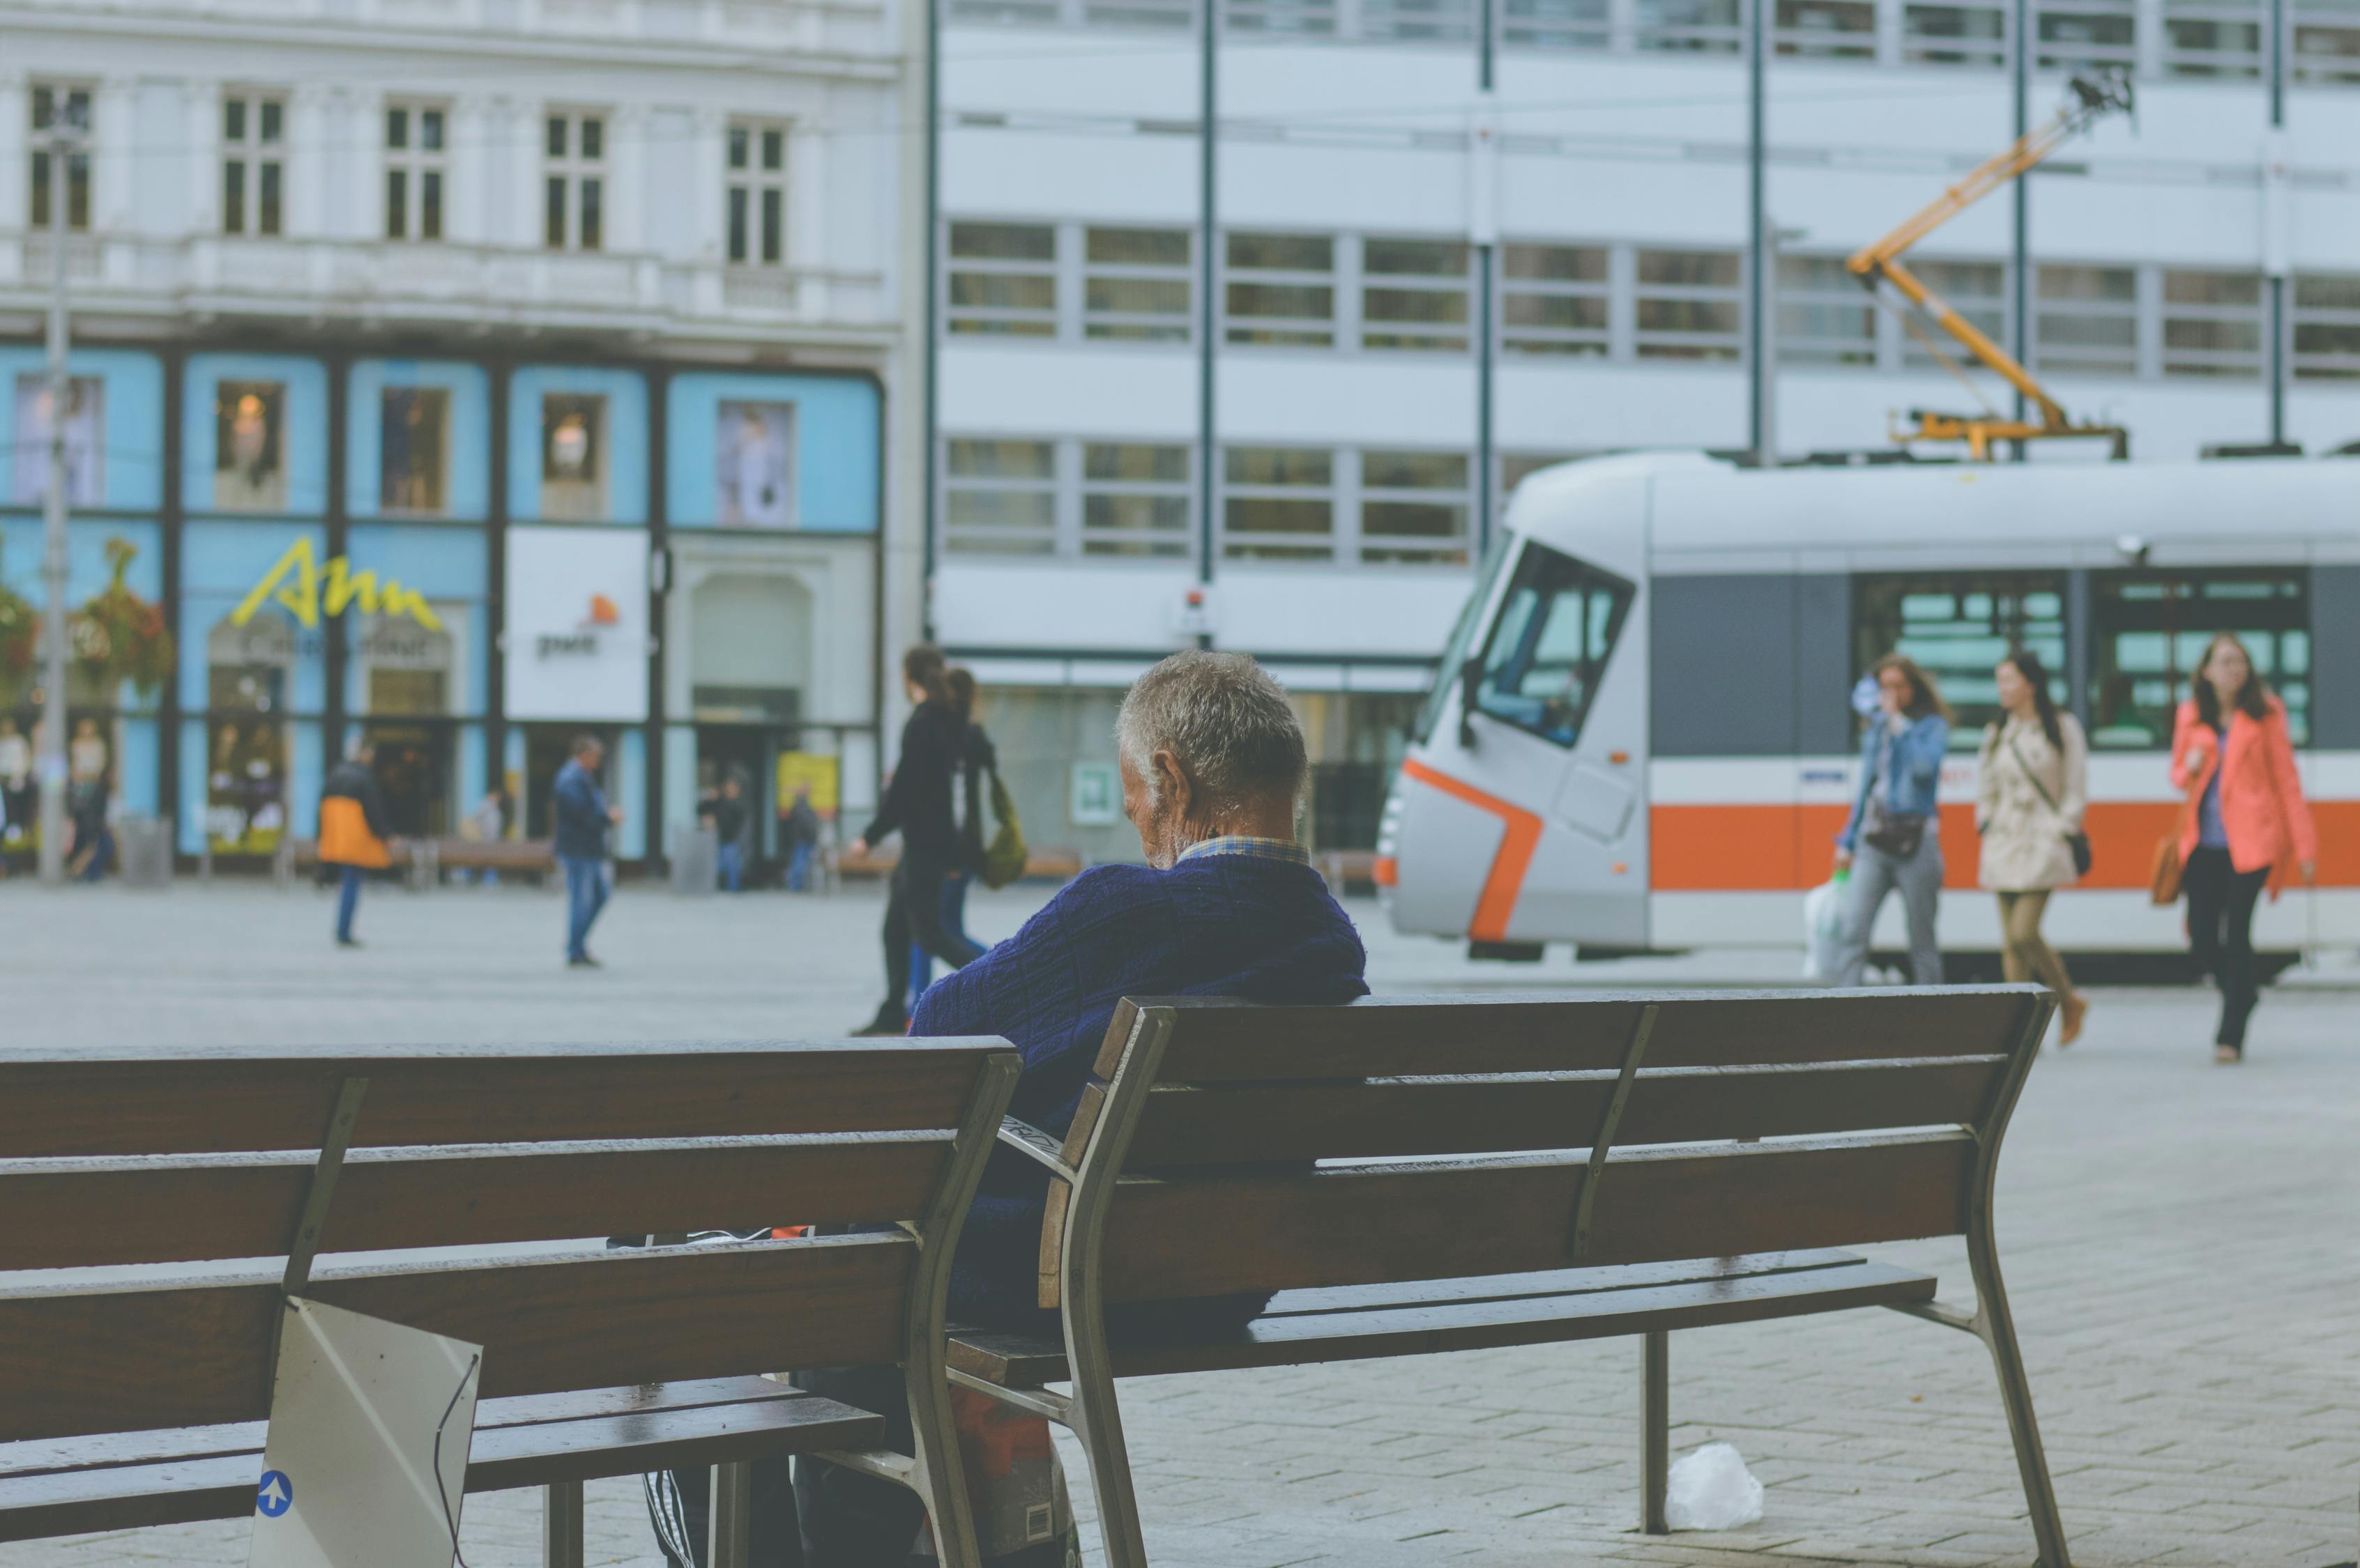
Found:
[[[1836,875],[1850,875],[1836,986],[1857,986],[1876,934],[1876,910],[1900,889],[1909,913],[1909,979],[1942,983],[1935,910],[1942,896],[1942,832],[1935,790],[1949,750],[1949,705],[1914,658],[1888,653],[1876,677],[1876,717],[1860,738],[1860,792],[1836,835]]]

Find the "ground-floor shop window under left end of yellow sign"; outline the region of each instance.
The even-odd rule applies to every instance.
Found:
[[[288,684],[295,627],[219,622],[205,644],[205,837],[212,854],[271,854],[288,830]]]

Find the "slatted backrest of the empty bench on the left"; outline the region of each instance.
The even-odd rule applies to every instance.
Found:
[[[474,1247],[326,1259],[300,1292],[481,1344],[484,1396],[902,1361],[1017,1066],[1001,1040],[5,1054],[0,1271],[109,1276],[0,1280],[0,1443],[264,1417],[312,1240]],[[932,1240],[604,1245],[857,1221]]]

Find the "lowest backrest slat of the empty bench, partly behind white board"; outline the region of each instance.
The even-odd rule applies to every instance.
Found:
[[[323,1269],[307,1294],[481,1344],[500,1398],[892,1363],[911,1261],[906,1236],[833,1236]],[[262,1419],[278,1311],[276,1273],[0,1292],[0,1441]]]

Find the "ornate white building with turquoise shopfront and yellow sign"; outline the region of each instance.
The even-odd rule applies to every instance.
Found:
[[[887,559],[916,561],[920,509],[885,462],[918,363],[906,24],[890,0],[0,5],[0,582],[40,597],[61,203],[68,599],[130,552],[179,651],[160,686],[68,689],[118,806],[172,818],[184,856],[264,856],[366,733],[404,832],[505,788],[505,832],[540,837],[592,731],[625,861],[729,773],[758,856],[798,788],[861,811],[878,648],[916,632]],[[52,170],[59,118],[87,158]],[[33,700],[17,681],[0,717]]]

